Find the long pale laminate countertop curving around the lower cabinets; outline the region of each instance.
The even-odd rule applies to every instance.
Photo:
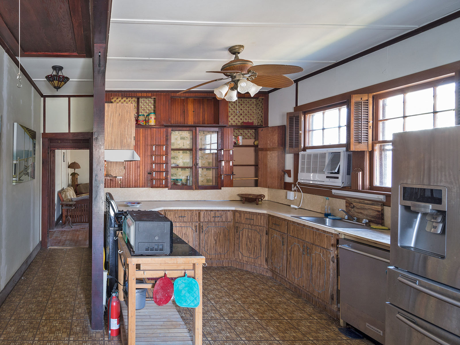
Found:
[[[355,241],[374,244],[377,247],[390,249],[390,231],[377,229],[334,229],[325,225],[308,222],[306,220],[293,218],[292,216],[305,217],[323,217],[322,213],[305,210],[303,208],[292,208],[288,205],[280,204],[274,201],[255,202],[243,204],[241,201],[141,201],[139,207],[129,207],[125,201],[116,201],[119,210],[144,210],[144,211],[161,211],[161,210],[236,210],[247,212],[258,212],[270,214],[272,216],[287,219],[299,224],[313,226],[317,229],[328,232],[342,234],[343,237]]]

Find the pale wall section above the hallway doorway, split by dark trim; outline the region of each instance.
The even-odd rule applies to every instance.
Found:
[[[92,97],[70,98],[70,132],[92,132]],[[46,133],[69,132],[69,98],[47,97]]]

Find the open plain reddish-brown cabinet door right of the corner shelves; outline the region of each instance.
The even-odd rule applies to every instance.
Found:
[[[284,189],[285,132],[285,126],[259,128],[259,187]]]

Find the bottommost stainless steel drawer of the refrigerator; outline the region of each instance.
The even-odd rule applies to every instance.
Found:
[[[386,304],[386,345],[460,345],[460,338],[413,314]]]

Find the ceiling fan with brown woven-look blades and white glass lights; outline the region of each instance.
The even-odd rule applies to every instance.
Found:
[[[214,81],[230,79],[230,81],[214,89],[217,99],[226,99],[234,102],[238,98],[238,92],[249,92],[254,96],[262,87],[289,87],[294,84],[294,81],[285,74],[299,73],[304,69],[299,66],[292,65],[253,65],[250,60],[241,59],[240,54],[244,49],[242,45],[231,46],[230,54],[235,55],[235,58],[228,63],[225,63],[220,71],[207,71],[206,73],[221,73],[225,78],[214,79],[200,85],[190,87],[187,90],[178,92],[184,93]]]

